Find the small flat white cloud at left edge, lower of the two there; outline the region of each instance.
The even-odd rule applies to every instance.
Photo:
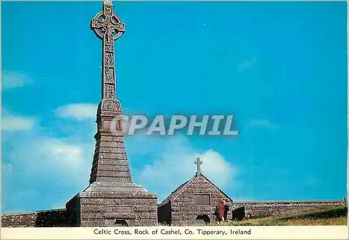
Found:
[[[31,130],[34,127],[35,120],[29,117],[18,117],[13,115],[3,115],[1,119],[1,130],[4,131],[22,131]]]

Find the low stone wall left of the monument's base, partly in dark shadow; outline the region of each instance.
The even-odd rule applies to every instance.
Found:
[[[66,227],[66,209],[4,213],[1,227]]]

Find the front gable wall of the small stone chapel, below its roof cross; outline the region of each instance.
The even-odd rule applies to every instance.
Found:
[[[193,194],[205,193],[211,195],[210,205],[197,205],[193,204]],[[214,210],[218,201],[224,198],[231,206],[230,200],[221,193],[215,186],[213,186],[204,177],[196,177],[189,186],[181,193],[176,199],[171,202],[172,210],[172,225],[178,225],[182,223],[191,223],[195,221],[195,218],[200,215],[207,215],[211,222],[216,220],[214,216]],[[232,211],[228,212],[228,219],[231,218]]]

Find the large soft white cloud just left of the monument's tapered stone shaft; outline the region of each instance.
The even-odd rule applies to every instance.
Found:
[[[59,139],[36,137],[30,142],[17,142],[6,174],[22,172],[23,176],[40,179],[57,177],[61,183],[73,181],[86,185],[94,151],[94,142],[75,141],[70,138]]]

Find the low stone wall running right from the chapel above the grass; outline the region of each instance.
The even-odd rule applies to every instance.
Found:
[[[253,218],[271,216],[292,211],[312,209],[319,206],[344,206],[343,200],[311,200],[311,201],[236,201],[232,204],[233,218]]]

